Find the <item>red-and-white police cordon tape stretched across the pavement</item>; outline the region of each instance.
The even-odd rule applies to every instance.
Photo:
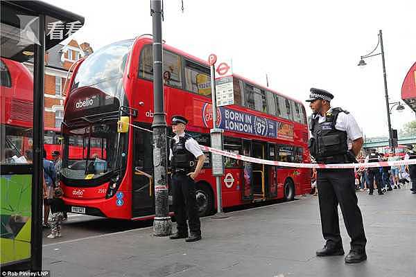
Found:
[[[379,168],[383,166],[406,166],[416,165],[416,159],[408,159],[402,161],[379,161],[376,163],[332,163],[332,164],[321,164],[321,163],[288,163],[286,161],[270,161],[264,159],[257,159],[253,157],[247,157],[240,154],[235,154],[215,148],[210,148],[205,145],[200,145],[201,150],[209,151],[214,154],[220,154],[225,157],[248,161],[251,163],[261,163],[269,166],[284,166],[288,168]]]

